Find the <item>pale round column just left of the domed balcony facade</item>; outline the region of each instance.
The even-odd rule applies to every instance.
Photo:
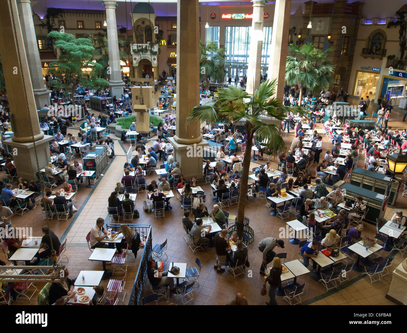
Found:
[[[110,72],[110,96],[120,97],[123,94],[124,82],[120,72],[120,55],[116,26],[116,0],[104,0],[103,4],[106,9],[107,23],[107,42],[109,49],[109,66]]]

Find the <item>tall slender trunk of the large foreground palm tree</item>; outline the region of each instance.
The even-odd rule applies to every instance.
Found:
[[[246,141],[246,151],[243,159],[243,173],[240,179],[240,191],[239,191],[239,202],[237,204],[237,233],[241,237],[243,231],[243,222],[245,220],[245,206],[246,206],[246,195],[247,195],[247,183],[249,182],[249,168],[250,168],[250,156],[252,155],[253,146],[253,130],[247,131],[247,141]]]

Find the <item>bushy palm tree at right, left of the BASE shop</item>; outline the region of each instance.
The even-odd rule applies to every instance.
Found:
[[[308,88],[312,93],[318,93],[333,84],[331,73],[334,72],[336,65],[326,60],[331,51],[332,49],[321,51],[315,48],[313,43],[307,43],[301,47],[293,44],[289,46],[292,56],[287,57],[285,80],[289,85],[301,83],[298,105],[301,105],[303,87]]]

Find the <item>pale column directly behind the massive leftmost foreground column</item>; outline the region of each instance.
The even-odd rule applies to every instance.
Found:
[[[33,85],[35,105],[37,106],[37,110],[41,110],[45,104],[50,104],[49,94],[51,91],[46,88],[44,78],[42,77],[41,59],[39,59],[31,0],[18,0],[17,5],[27,54],[28,68],[30,70],[31,83]]]

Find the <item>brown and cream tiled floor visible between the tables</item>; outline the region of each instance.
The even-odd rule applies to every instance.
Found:
[[[369,110],[372,111],[372,110]],[[395,127],[402,128],[401,117],[392,113],[392,121],[389,123]],[[317,124],[317,127],[321,127],[321,124]],[[70,133],[75,130],[70,129]],[[75,132],[76,133],[76,132]],[[293,138],[293,133],[284,135],[283,139],[289,146],[289,142]],[[90,228],[95,224],[96,218],[107,217],[107,198],[114,190],[116,183],[120,181],[123,174],[123,164],[126,161],[126,152],[129,148],[129,144],[122,144],[120,140],[115,139],[115,152],[116,157],[112,159],[105,170],[103,170],[103,176],[101,176],[93,189],[87,189],[83,184],[77,194],[77,202],[74,205],[79,210],[74,214],[74,217],[69,219],[68,222],[57,222],[56,219],[49,222],[50,228],[61,239],[67,238],[67,255],[70,258],[66,267],[70,270],[71,276],[77,276],[80,270],[101,270],[102,265],[99,262],[88,261],[90,250],[85,241],[85,235],[90,231]],[[330,148],[331,145],[324,139],[324,148]],[[148,146],[152,142],[149,142]],[[262,161],[259,161],[262,162]],[[252,162],[250,168],[254,168],[259,165],[259,162]],[[363,159],[360,159],[359,163],[363,163]],[[360,166],[360,165],[359,165]],[[315,172],[315,169],[313,170]],[[156,179],[156,176],[151,174],[147,176],[147,182],[151,182],[152,179]],[[212,209],[213,202],[210,193],[209,185],[202,185],[204,191],[207,194],[206,205],[208,209]],[[205,248],[205,252],[195,252],[188,248],[186,242],[183,239],[184,232],[182,230],[182,209],[179,205],[177,198],[171,199],[171,205],[173,209],[171,211],[165,211],[165,217],[155,218],[153,213],[144,213],[142,209],[142,203],[146,193],[140,192],[136,199],[136,209],[140,213],[140,218],[135,219],[134,222],[139,224],[150,224],[152,226],[153,244],[163,242],[168,239],[168,259],[166,259],[167,267],[168,262],[186,262],[188,265],[195,263],[195,258],[199,257],[203,266],[201,274],[199,276],[199,286],[195,287],[193,292],[195,305],[224,305],[228,300],[234,298],[237,292],[243,293],[249,301],[250,305],[264,305],[268,300],[268,296],[260,295],[260,288],[263,284],[263,276],[258,274],[261,262],[261,252],[258,251],[258,242],[265,237],[278,237],[279,229],[285,229],[285,222],[288,219],[282,221],[280,218],[273,217],[269,214],[269,209],[265,207],[265,199],[259,199],[250,197],[246,204],[245,216],[250,220],[250,226],[254,229],[254,242],[249,244],[248,253],[251,266],[246,269],[245,275],[240,275],[234,279],[233,275],[229,272],[223,274],[217,274],[213,269],[216,254],[214,248]],[[387,207],[386,218],[393,215],[395,209],[403,209],[406,205],[405,198],[399,196],[395,207]],[[236,215],[237,207],[227,207],[225,209],[232,215]],[[295,217],[291,218],[295,219]],[[290,220],[291,220],[290,219]],[[106,220],[107,222],[107,220]],[[232,222],[232,221],[230,221]],[[38,207],[35,211],[30,211],[22,216],[13,218],[13,226],[29,226],[33,227],[33,235],[41,235],[41,226],[46,225],[47,222],[42,220],[42,213]],[[363,234],[367,234],[370,237],[374,237],[376,233],[376,227],[371,224],[365,223],[365,230]],[[284,239],[285,248],[277,249],[277,252],[287,252],[286,261],[298,259],[298,246],[294,246],[288,242],[288,239]],[[133,286],[133,281],[138,269],[139,257],[142,250],[139,251],[138,258],[135,262],[132,259],[128,262],[128,275],[125,289],[130,292]],[[383,252],[383,256],[388,252]],[[0,255],[0,259],[4,260],[3,254]],[[393,265],[390,267],[390,275],[385,276],[381,282],[370,283],[370,280],[366,277],[359,277],[360,273],[351,271],[350,279],[351,283],[343,289],[333,289],[329,293],[322,286],[311,279],[311,274],[305,274],[298,279],[299,283],[306,282],[304,294],[302,295],[302,301],[304,304],[311,305],[326,305],[326,304],[343,304],[343,305],[376,305],[376,304],[394,304],[385,298],[385,294],[389,289],[389,284],[392,279],[392,270],[402,261],[400,254],[396,255]],[[66,261],[63,261],[66,263]],[[311,268],[311,266],[310,266]],[[116,276],[115,276],[116,277]],[[120,278],[118,275],[116,278]],[[352,279],[355,278],[355,281]],[[357,280],[357,281],[356,281]],[[106,286],[107,281],[102,281],[102,285]],[[40,290],[44,284],[37,284]],[[148,285],[148,283],[146,284]],[[285,285],[285,283],[283,283]],[[143,296],[151,293],[149,287],[145,287],[143,290]],[[283,301],[282,297],[276,297],[278,304],[287,304]],[[125,304],[129,300],[129,293],[125,296]],[[168,300],[162,300],[160,304],[175,303],[174,296],[168,298]],[[13,304],[28,304],[24,300],[17,300]],[[34,297],[29,304],[37,304],[36,297]]]

